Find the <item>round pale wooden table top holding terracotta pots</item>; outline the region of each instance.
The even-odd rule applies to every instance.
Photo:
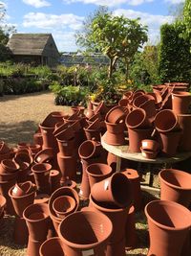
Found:
[[[177,163],[191,156],[191,151],[189,151],[189,152],[177,153],[175,156],[172,156],[172,157],[157,157],[156,159],[147,159],[141,154],[141,152],[128,151],[129,149],[128,145],[114,146],[114,145],[107,144],[104,141],[104,135],[101,137],[101,145],[106,151],[112,152],[121,158],[125,158],[132,161],[143,162],[143,163],[153,163],[153,164]]]

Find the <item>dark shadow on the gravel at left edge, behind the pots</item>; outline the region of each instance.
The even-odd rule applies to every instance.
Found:
[[[31,142],[37,124],[31,120],[0,125],[0,138],[8,144],[17,145],[18,142]]]

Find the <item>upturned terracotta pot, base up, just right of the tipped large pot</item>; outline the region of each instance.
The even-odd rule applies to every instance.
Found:
[[[142,195],[140,190],[140,176],[138,171],[134,169],[125,169],[122,171],[123,175],[126,175],[131,181],[133,205],[136,211],[139,211],[142,207]]]

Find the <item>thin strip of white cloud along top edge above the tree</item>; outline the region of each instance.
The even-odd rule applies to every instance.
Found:
[[[96,6],[119,6],[121,4],[128,4],[131,6],[138,6],[143,3],[153,2],[154,0],[63,0],[64,3],[81,2],[83,4],[94,4]]]

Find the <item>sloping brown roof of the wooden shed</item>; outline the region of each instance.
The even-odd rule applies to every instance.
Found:
[[[8,47],[13,55],[41,56],[52,34],[13,34]]]

